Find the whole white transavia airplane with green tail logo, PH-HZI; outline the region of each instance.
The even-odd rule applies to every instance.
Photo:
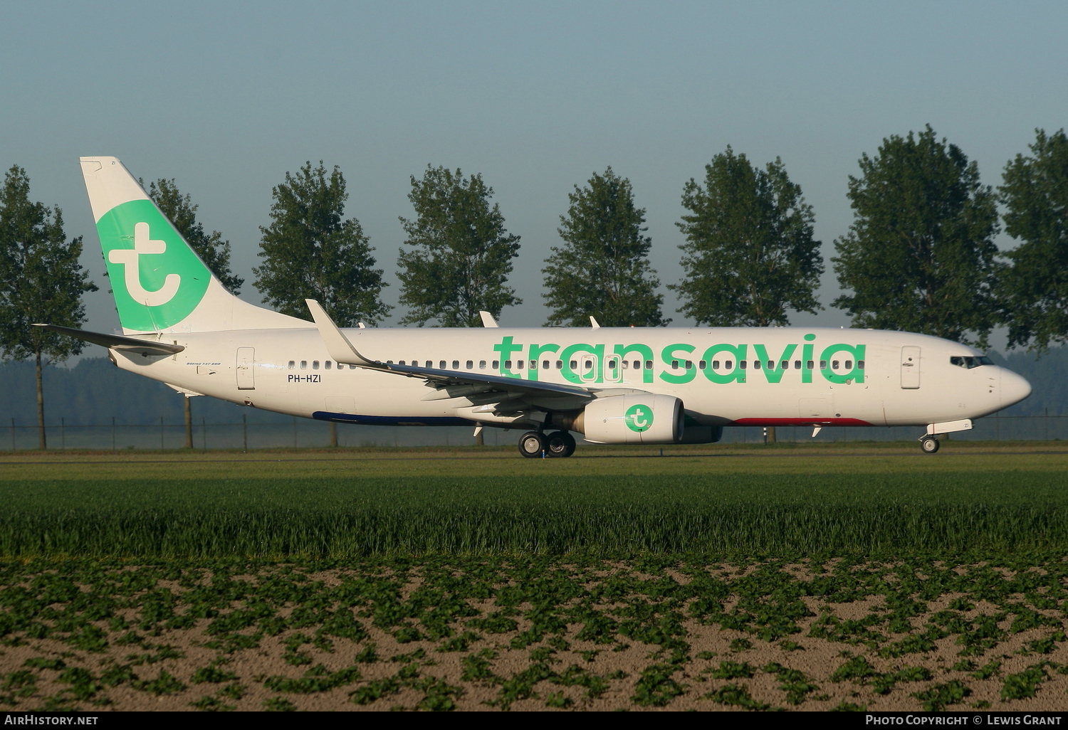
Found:
[[[984,353],[831,328],[339,328],[231,295],[114,157],[82,157],[123,334],[41,324],[191,397],[347,424],[520,429],[528,458],[702,444],[724,427],[917,426],[939,435],[1031,393]]]

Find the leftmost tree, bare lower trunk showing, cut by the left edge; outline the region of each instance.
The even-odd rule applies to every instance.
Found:
[[[5,360],[34,359],[41,449],[48,447],[42,368],[78,354],[84,343],[32,324],[85,321],[81,297],[96,285],[80,255],[81,236],[67,240],[62,211],[31,203],[30,178],[12,165],[0,191],[0,347]]]

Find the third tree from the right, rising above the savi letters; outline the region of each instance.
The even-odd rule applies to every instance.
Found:
[[[764,170],[745,155],[726,152],[705,165],[705,185],[682,190],[690,215],[677,223],[686,236],[682,312],[698,324],[788,324],[787,308],[815,313],[823,273],[814,216],[801,187],[778,157]]]

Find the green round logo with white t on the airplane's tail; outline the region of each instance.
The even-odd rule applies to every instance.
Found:
[[[97,222],[123,327],[162,330],[188,317],[211,273],[152,201],[129,201]]]

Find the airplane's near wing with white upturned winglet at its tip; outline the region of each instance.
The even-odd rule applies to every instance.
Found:
[[[345,333],[337,329],[330,315],[314,299],[304,300],[308,308],[315,319],[319,335],[327,346],[327,352],[337,363],[345,365],[357,365],[373,370],[395,372],[396,375],[409,378],[420,378],[436,390],[428,393],[423,400],[444,400],[446,398],[476,397],[478,400],[486,398],[502,399],[502,396],[509,398],[524,397],[525,399],[544,398],[578,398],[581,400],[593,400],[597,397],[615,395],[623,391],[630,392],[631,388],[588,388],[581,385],[567,385],[564,383],[541,383],[535,380],[522,380],[520,378],[505,378],[502,376],[482,375],[469,370],[439,370],[431,367],[419,367],[418,365],[395,365],[393,363],[380,363],[360,354],[352,346]]]

